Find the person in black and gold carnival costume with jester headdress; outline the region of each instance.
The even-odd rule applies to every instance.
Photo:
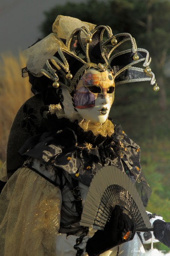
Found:
[[[126,41],[132,49],[118,51]],[[113,36],[108,26],[59,15],[53,33],[23,54],[22,74],[35,96],[14,119],[1,169],[1,180],[8,180],[0,201],[2,255],[108,256],[118,255],[118,246],[121,255],[132,255],[134,246],[144,252],[135,223],[119,206],[104,230],[79,221],[103,166],[125,173],[147,206],[140,148],[108,115],[115,85],[150,80],[159,90],[149,53],[128,33]],[[144,69],[133,67],[141,61]]]

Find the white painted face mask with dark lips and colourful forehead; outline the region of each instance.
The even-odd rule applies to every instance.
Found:
[[[79,80],[74,92],[78,113],[87,121],[104,123],[114,101],[114,78],[110,70],[89,69]]]

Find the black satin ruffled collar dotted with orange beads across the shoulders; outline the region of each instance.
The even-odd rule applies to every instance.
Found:
[[[139,146],[126,136],[121,125],[115,125],[111,137],[85,132],[76,122],[67,119],[59,120],[57,127],[57,132],[51,126],[51,131],[31,137],[19,153],[62,169],[87,186],[102,166],[118,167],[133,183],[139,177]]]

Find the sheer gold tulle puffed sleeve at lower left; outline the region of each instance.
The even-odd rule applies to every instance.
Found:
[[[0,256],[54,256],[61,204],[58,187],[18,169],[0,195]]]

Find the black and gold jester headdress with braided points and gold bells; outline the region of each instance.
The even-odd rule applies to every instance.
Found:
[[[132,48],[118,51],[130,41]],[[109,26],[96,26],[77,18],[59,15],[53,24],[53,33],[23,52],[27,68],[33,76],[47,76],[54,87],[66,87],[72,93],[85,70],[112,69],[115,84],[148,81],[159,90],[149,64],[151,58],[145,49],[137,48],[128,33],[113,35]],[[134,67],[143,62],[143,68]]]

